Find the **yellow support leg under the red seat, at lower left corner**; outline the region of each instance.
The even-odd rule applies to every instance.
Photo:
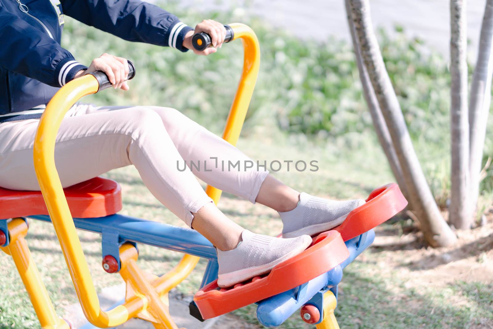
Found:
[[[21,218],[12,219],[8,223],[10,244],[0,249],[14,259],[17,271],[26,287],[37,318],[43,329],[69,329],[70,326],[55,312],[48,292],[41,281],[33,256],[29,251],[24,237],[28,233],[28,225]]]

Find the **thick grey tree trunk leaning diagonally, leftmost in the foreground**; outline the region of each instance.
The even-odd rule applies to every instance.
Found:
[[[377,38],[368,0],[349,0],[361,57],[385,118],[407,192],[426,241],[433,247],[452,245],[457,237],[442,218],[414,151],[404,116],[393,90]]]

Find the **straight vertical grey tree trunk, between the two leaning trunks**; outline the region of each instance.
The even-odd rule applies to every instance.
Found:
[[[451,75],[451,202],[450,222],[467,229],[472,224],[469,197],[469,121],[467,111],[466,1],[450,1],[450,75]]]

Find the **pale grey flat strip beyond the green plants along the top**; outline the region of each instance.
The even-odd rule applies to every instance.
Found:
[[[302,38],[324,40],[329,35],[348,39],[343,0],[180,0],[184,6],[210,9],[236,8],[241,12],[263,16],[267,22]],[[469,55],[476,61],[476,47],[486,0],[467,1],[467,36]],[[244,5],[250,3],[250,5]],[[426,44],[449,55],[449,0],[371,0],[374,26],[389,30],[404,26],[410,36],[421,37]],[[200,9],[202,10],[202,9]],[[187,22],[192,24],[194,22]]]

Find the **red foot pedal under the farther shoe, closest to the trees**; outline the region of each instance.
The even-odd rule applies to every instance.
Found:
[[[366,203],[349,213],[334,230],[341,233],[344,241],[348,241],[392,218],[406,206],[407,200],[399,185],[390,183],[373,190]]]

